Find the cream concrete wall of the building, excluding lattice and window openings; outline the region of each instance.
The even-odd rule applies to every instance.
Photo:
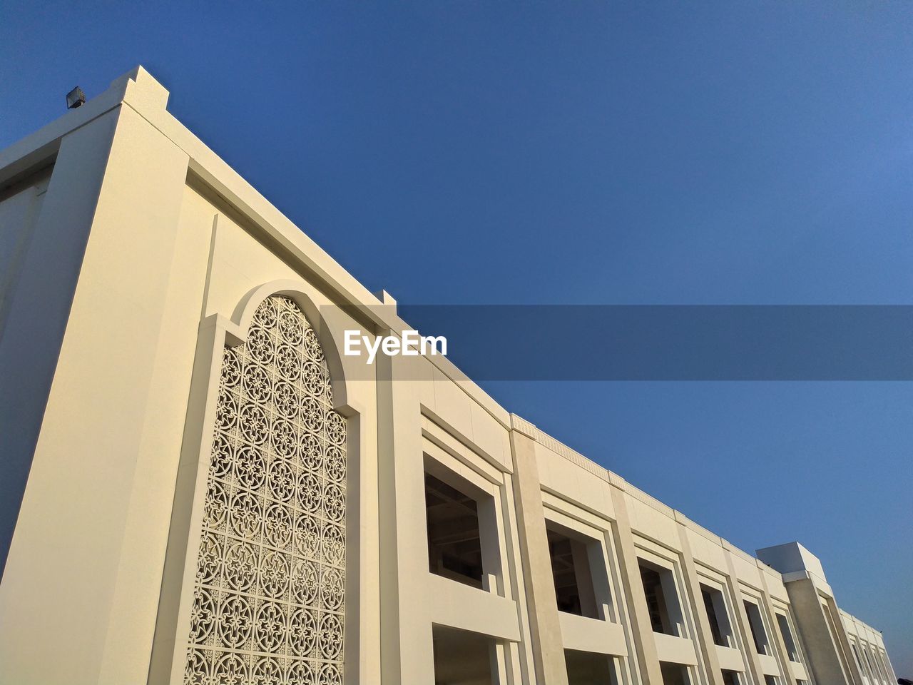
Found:
[[[880,634],[839,611],[804,548],[761,550],[762,563],[510,415],[446,358],[366,369],[341,356],[344,329],[408,328],[393,300],[174,120],[167,97],[137,68],[0,153],[0,426],[5,466],[21,480],[31,468],[0,581],[0,682],[183,680],[222,351],[277,292],[319,330],[348,420],[347,683],[433,682],[435,626],[486,636],[505,684],[567,682],[565,649],[612,658],[630,685],[659,685],[660,661],[708,685],[720,669],[758,685],[893,677]],[[425,469],[478,498],[481,589],[429,572]],[[587,544],[599,617],[558,611],[546,521]],[[638,559],[669,571],[678,636],[653,632]],[[724,596],[726,646],[702,584]]]

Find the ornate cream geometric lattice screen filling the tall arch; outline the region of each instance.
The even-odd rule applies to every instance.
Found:
[[[292,300],[257,308],[222,364],[188,685],[340,685],[345,421]]]

